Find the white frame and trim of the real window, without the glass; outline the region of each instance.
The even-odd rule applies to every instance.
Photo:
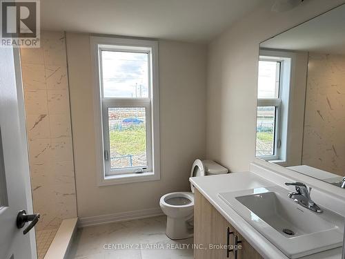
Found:
[[[142,39],[115,37],[90,37],[92,67],[95,82],[95,135],[97,145],[98,185],[126,184],[160,179],[159,164],[159,90],[158,90],[158,42]],[[104,97],[102,78],[102,51],[147,52],[148,53],[148,97]],[[146,109],[146,160],[148,166],[142,173],[130,169],[110,169],[108,131],[108,108]],[[138,167],[140,168],[140,167]]]

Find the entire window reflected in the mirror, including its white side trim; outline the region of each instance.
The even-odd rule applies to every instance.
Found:
[[[256,157],[284,164],[291,128],[289,103],[295,54],[260,49],[257,91]]]

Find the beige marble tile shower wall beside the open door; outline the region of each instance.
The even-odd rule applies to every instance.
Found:
[[[21,67],[37,230],[77,217],[63,32],[43,32],[41,48],[22,48]]]

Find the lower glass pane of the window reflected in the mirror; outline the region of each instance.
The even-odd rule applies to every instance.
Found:
[[[275,155],[275,106],[257,107],[257,157]]]

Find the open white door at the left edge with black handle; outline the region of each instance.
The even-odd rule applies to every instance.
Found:
[[[0,131],[0,258],[37,258],[34,229],[23,234],[30,222],[17,228],[18,212],[32,213],[18,49],[0,48]]]

